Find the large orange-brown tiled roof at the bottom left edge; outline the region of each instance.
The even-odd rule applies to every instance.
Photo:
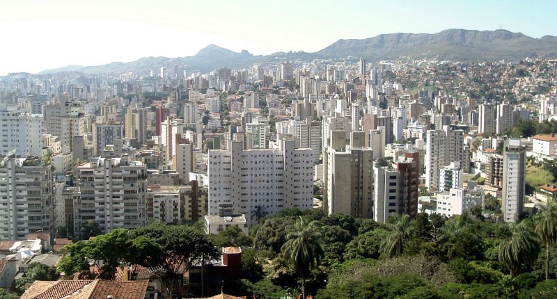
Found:
[[[117,299],[144,298],[148,280],[116,282],[113,280],[36,281],[20,299]]]

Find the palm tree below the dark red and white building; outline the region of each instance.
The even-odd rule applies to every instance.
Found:
[[[393,222],[387,224],[391,233],[381,244],[381,252],[387,257],[398,257],[410,238],[410,216],[402,214],[393,215],[391,218],[395,218]]]

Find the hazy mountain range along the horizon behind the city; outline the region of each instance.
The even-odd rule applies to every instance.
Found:
[[[463,62],[485,62],[494,60],[517,61],[525,57],[557,58],[557,37],[546,35],[531,38],[522,33],[506,30],[476,31],[448,29],[434,34],[392,33],[377,35],[363,40],[338,40],[314,53],[277,52],[267,56],[252,55],[246,50],[240,53],[215,45],[208,45],[194,56],[166,58],[146,57],[130,63],[109,63],[97,66],[69,65],[39,74],[55,72],[109,73],[146,70],[156,67],[181,65],[187,70],[209,72],[219,67],[233,69],[249,67],[254,63],[271,61],[301,60],[315,58],[366,58],[373,62],[393,58],[437,58]]]

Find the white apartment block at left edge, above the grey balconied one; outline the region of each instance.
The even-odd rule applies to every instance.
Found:
[[[42,115],[29,115],[0,105],[0,155],[40,156]]]

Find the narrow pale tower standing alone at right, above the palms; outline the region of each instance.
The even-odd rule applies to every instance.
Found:
[[[503,149],[503,221],[517,222],[524,211],[526,193],[526,148],[519,139],[505,140]]]

